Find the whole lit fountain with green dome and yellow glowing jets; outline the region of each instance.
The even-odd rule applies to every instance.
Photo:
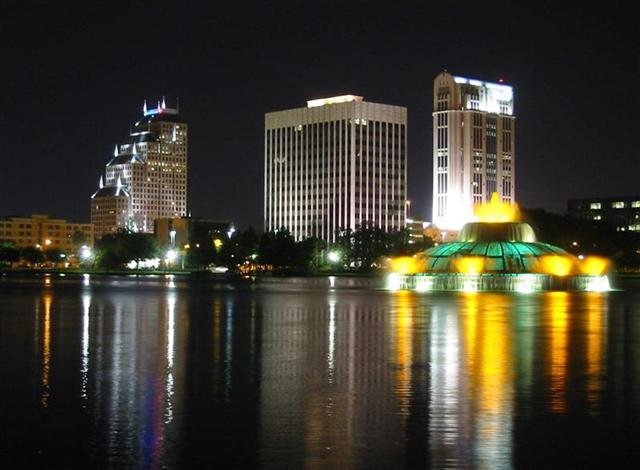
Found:
[[[579,260],[562,248],[536,241],[520,222],[517,205],[500,201],[475,208],[458,241],[443,243],[414,257],[391,260],[388,287],[425,291],[606,291],[608,260]]]

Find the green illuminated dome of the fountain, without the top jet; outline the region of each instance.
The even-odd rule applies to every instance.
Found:
[[[481,260],[480,271],[490,273],[530,273],[544,256],[571,257],[562,248],[536,241],[526,222],[472,222],[466,224],[458,241],[430,248],[423,254],[426,272],[457,273],[461,262]],[[462,269],[466,271],[467,269]]]

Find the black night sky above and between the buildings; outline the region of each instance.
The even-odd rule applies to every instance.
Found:
[[[189,123],[193,215],[261,228],[264,113],[353,93],[408,107],[409,197],[428,219],[444,68],[514,86],[522,206],[640,194],[632,2],[87,3],[0,0],[0,216],[88,220],[114,145],[166,95]]]

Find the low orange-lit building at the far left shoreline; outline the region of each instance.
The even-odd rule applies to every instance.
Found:
[[[48,215],[34,214],[31,217],[0,218],[0,242],[13,243],[17,248],[58,248],[71,253],[73,234],[84,235],[83,245],[93,246],[93,225],[50,219]]]

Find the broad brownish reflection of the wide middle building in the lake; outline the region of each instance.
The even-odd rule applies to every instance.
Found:
[[[265,299],[262,464],[292,449],[310,468],[391,464],[402,433],[397,402],[389,399],[401,373],[388,360],[391,306],[383,295],[371,303],[329,297],[318,308],[316,296],[327,293]]]

